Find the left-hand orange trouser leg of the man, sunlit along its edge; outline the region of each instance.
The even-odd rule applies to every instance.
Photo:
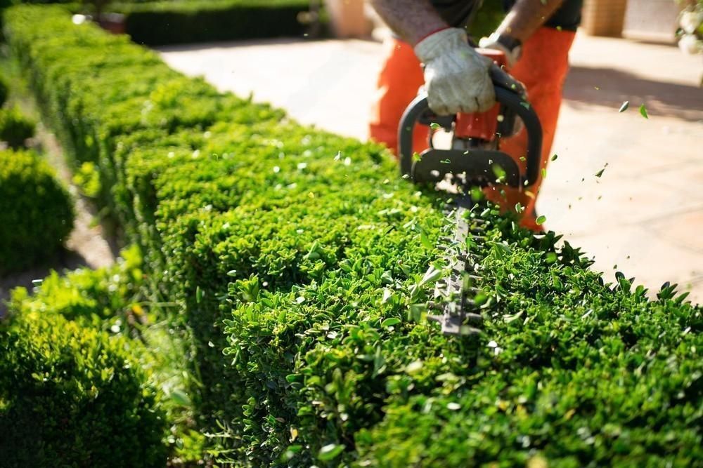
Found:
[[[369,136],[398,154],[398,125],[408,104],[418,95],[425,79],[420,61],[406,42],[390,39],[385,44],[386,58],[378,76],[377,91],[371,109]],[[427,128],[415,128],[413,148],[427,148]]]

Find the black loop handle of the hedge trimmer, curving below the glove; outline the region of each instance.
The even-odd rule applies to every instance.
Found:
[[[527,131],[527,172],[521,175],[520,185],[522,187],[530,187],[534,185],[539,175],[542,154],[541,123],[539,123],[537,114],[532,106],[529,102],[523,100],[520,94],[508,91],[498,83],[496,83],[495,89],[496,101],[505,107],[501,113],[509,110],[517,114],[522,119]],[[415,124],[426,114],[432,114],[432,111],[427,104],[427,95],[420,94],[405,110],[400,121],[398,136],[400,170],[406,178],[411,178],[413,172],[413,129]]]

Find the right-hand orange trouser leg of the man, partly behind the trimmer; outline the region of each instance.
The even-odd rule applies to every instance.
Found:
[[[569,71],[569,49],[575,33],[559,31],[551,27],[541,27],[524,44],[522,58],[510,69],[510,74],[524,83],[528,100],[542,124],[541,168],[546,168],[550,160],[552,143],[562,102],[562,88]],[[501,149],[510,154],[524,171],[525,163],[520,161],[527,148],[527,133],[523,130],[512,138],[501,141]],[[536,183],[529,190],[505,188],[505,198],[499,189],[488,189],[489,199],[501,203],[505,209],[515,209],[520,203],[524,215],[520,224],[533,230],[541,230],[535,222],[534,207],[539,187],[542,184],[540,173]]]

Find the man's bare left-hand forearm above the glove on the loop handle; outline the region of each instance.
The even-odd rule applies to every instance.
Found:
[[[370,3],[393,32],[413,46],[433,32],[449,27],[429,0],[371,0]]]

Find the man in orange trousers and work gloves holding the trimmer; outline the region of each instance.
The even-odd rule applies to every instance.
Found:
[[[498,0],[486,0],[498,1]],[[440,115],[484,112],[495,103],[489,78],[490,60],[467,43],[465,27],[482,0],[371,0],[378,14],[400,39],[389,44],[378,79],[378,97],[370,121],[370,137],[398,148],[398,124],[418,88],[425,85],[430,108]],[[543,129],[541,167],[546,167],[561,104],[562,85],[581,20],[582,0],[503,0],[505,20],[480,46],[505,53],[510,74],[524,83]],[[423,67],[420,65],[422,63]],[[501,142],[501,149],[519,161],[524,131]],[[414,147],[427,147],[427,134],[416,132]],[[524,168],[524,162],[519,161]],[[536,231],[534,210],[542,176],[534,193],[505,189],[505,197],[489,189],[489,199],[512,208],[524,207],[522,225]]]

